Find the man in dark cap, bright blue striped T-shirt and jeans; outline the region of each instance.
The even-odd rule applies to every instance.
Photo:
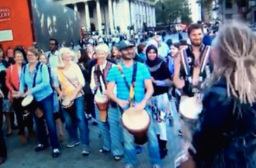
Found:
[[[112,67],[109,70],[107,77],[107,94],[112,101],[116,101],[119,105],[121,111],[129,108],[129,99],[130,99],[130,90],[127,87],[124,77],[126,77],[127,84],[130,86],[133,79],[133,68],[134,63],[133,57],[135,56],[135,46],[129,41],[122,41],[118,46],[121,52],[121,63]],[[123,75],[121,73],[123,70]],[[150,78],[150,72],[147,70],[147,67],[143,63],[137,62],[136,70],[136,80],[134,86],[134,99],[133,104],[135,108],[142,111],[147,106],[148,99],[154,93],[154,88]],[[124,76],[124,77],[123,77]],[[114,88],[116,86],[116,94],[114,94]],[[145,92],[146,90],[146,92]],[[121,122],[121,121],[120,121]],[[136,123],[134,123],[136,124]],[[154,132],[154,127],[150,124],[150,127],[147,131],[148,138],[148,148],[150,161],[153,164],[153,167],[157,168],[161,165],[161,159],[159,155],[159,147],[157,144],[157,135]],[[130,134],[123,127],[123,140],[124,140],[124,159],[126,163],[126,168],[133,168],[137,166],[137,155],[136,155],[136,146],[134,144],[134,136]]]

